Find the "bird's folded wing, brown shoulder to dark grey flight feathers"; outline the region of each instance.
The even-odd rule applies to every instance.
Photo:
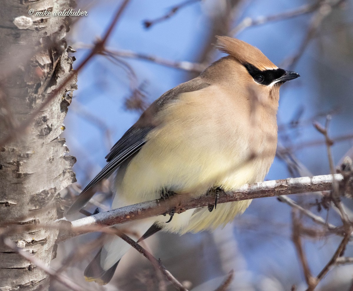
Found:
[[[67,214],[79,211],[95,194],[93,190],[89,191],[102,179],[108,178],[122,162],[137,153],[139,149],[146,143],[146,136],[158,124],[155,123],[154,117],[161,108],[170,101],[178,98],[181,93],[201,90],[210,84],[203,78],[198,77],[183,84],[174,87],[164,93],[148,109],[141,115],[139,120],[130,127],[128,131],[119,139],[106,156],[108,164],[97,174],[96,177],[82,190],[78,198],[68,209]]]

